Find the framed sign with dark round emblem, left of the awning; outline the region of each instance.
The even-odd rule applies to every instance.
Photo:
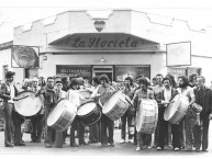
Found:
[[[38,68],[37,46],[13,45],[11,48],[11,66],[13,68]]]

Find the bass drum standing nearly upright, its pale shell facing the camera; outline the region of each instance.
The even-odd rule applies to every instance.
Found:
[[[142,99],[136,113],[136,130],[153,134],[157,126],[158,105],[155,100]]]

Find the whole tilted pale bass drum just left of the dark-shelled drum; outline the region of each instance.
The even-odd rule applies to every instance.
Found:
[[[47,125],[58,132],[64,132],[75,120],[77,106],[66,99],[59,100],[48,114]]]

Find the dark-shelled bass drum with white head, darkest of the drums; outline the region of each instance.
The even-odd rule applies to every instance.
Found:
[[[78,109],[77,116],[85,125],[93,125],[101,117],[101,107],[93,100],[87,100]]]

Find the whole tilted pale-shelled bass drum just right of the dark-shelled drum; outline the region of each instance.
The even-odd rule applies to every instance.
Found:
[[[124,113],[129,110],[129,102],[126,101],[125,94],[121,91],[114,92],[102,107],[102,113],[110,120],[116,121],[121,118]]]

